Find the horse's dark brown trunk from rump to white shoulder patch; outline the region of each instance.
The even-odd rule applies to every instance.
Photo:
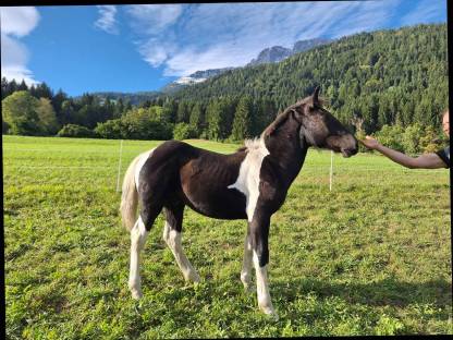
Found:
[[[245,218],[245,196],[228,189],[238,175],[245,151],[222,155],[179,141],[167,141],[149,154],[139,170],[140,195],[181,199],[215,218]]]

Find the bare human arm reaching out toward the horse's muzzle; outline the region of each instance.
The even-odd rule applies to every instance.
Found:
[[[379,153],[387,156],[394,162],[409,169],[445,168],[445,162],[437,154],[425,154],[414,158],[403,153],[385,147],[370,136],[366,136],[365,139],[359,142],[367,148],[378,150]]]

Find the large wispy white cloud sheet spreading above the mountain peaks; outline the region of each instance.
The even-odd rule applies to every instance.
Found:
[[[184,76],[245,65],[266,47],[379,29],[401,1],[151,4],[126,13],[143,59],[166,75]]]

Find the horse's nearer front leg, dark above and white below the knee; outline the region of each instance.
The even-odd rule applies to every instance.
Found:
[[[279,318],[272,306],[269,293],[268,270],[270,216],[266,212],[256,210],[252,222],[249,222],[250,243],[253,251],[253,263],[256,271],[256,289],[258,307],[268,315]]]

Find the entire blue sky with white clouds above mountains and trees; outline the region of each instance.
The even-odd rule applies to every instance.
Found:
[[[157,90],[267,47],[419,23],[446,0],[0,7],[1,75],[70,96]]]

